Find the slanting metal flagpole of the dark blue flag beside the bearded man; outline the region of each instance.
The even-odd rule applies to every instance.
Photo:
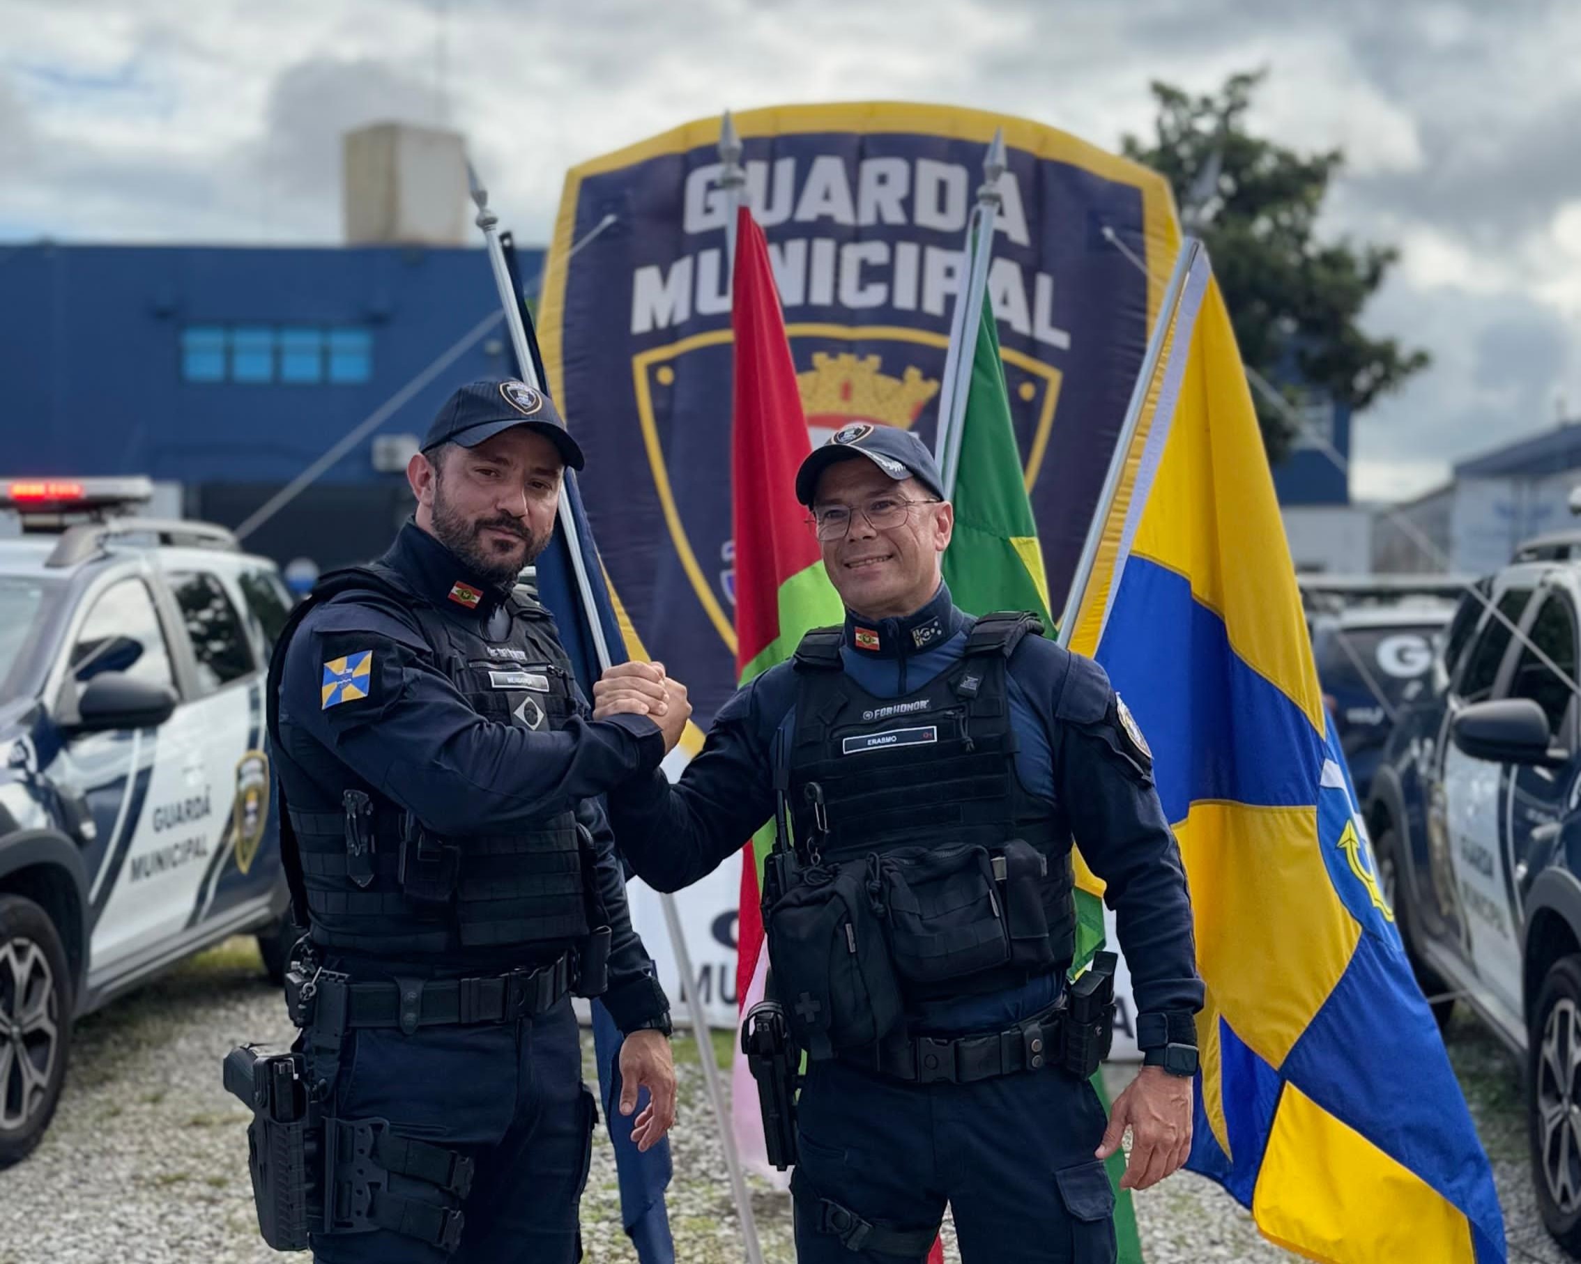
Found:
[[[477,204],[477,228],[482,229],[484,242],[489,246],[489,262],[493,265],[495,288],[500,291],[500,302],[504,305],[506,327],[511,330],[511,346],[515,349],[515,362],[522,371],[522,381],[534,390],[542,390],[538,381],[538,370],[533,365],[533,354],[526,344],[526,329],[522,324],[520,299],[515,286],[511,284],[511,269],[504,262],[504,250],[495,226],[498,216],[489,210],[489,191],[477,182],[476,172],[468,166],[468,182],[473,201]],[[568,469],[566,477],[574,477]],[[599,670],[607,670],[613,659],[609,653],[609,641],[604,637],[604,624],[598,615],[598,604],[593,600],[593,583],[588,577],[587,562],[582,556],[582,539],[577,531],[575,517],[571,514],[568,496],[560,498],[560,529],[566,534],[566,548],[571,553],[571,567],[577,577],[577,592],[582,597],[582,611],[587,616],[588,629],[593,634],[593,648],[598,653]],[[715,1120],[719,1127],[719,1141],[724,1147],[724,1161],[730,1171],[730,1188],[735,1194],[735,1210],[741,1220],[741,1236],[746,1239],[746,1258],[749,1264],[762,1264],[762,1248],[757,1242],[757,1224],[753,1220],[753,1202],[746,1190],[746,1179],[741,1176],[741,1163],[735,1153],[735,1138],[730,1133],[730,1122],[724,1111],[724,1093],[719,1087],[719,1068],[713,1060],[713,1036],[708,1029],[708,1018],[702,1008],[702,995],[697,989],[697,975],[692,972],[691,953],[686,951],[686,935],[681,932],[680,913],[675,908],[675,896],[667,891],[659,893],[664,907],[664,924],[670,935],[670,951],[675,953],[675,964],[686,981],[686,1006],[691,1014],[692,1038],[697,1041],[697,1060],[702,1063],[704,1085],[708,1103],[713,1106]]]

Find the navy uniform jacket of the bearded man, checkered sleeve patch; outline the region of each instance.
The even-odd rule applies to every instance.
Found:
[[[500,667],[519,664],[506,645],[509,591],[470,574],[440,540],[408,521],[379,559],[443,618],[481,637]],[[360,654],[367,653],[367,659]],[[330,664],[356,659],[351,686],[326,684]],[[558,727],[485,717],[440,670],[419,621],[402,602],[364,589],[310,610],[280,665],[278,777],[286,803],[338,804],[348,787],[409,811],[441,837],[508,836],[574,812],[593,839],[596,885],[610,923],[609,989],[602,1000],[621,1030],[653,1025],[667,1002],[631,927],[624,874],[599,795],[653,773],[664,738],[642,716],[590,719],[575,683],[572,714]],[[544,954],[549,946],[544,946]],[[452,972],[534,965],[531,946],[451,948],[427,964]]]

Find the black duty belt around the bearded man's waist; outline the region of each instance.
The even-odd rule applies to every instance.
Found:
[[[343,1030],[353,1027],[400,1027],[411,1035],[419,1027],[468,1027],[514,1022],[552,1010],[571,991],[571,954],[538,970],[511,970],[484,978],[394,980],[353,983],[334,970],[310,978],[286,975],[286,1010],[307,1027],[315,1011],[345,1013]]]

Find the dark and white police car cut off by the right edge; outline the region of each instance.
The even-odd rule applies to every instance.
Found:
[[[1401,708],[1368,826],[1417,976],[1526,1065],[1532,1180],[1581,1258],[1581,534],[1473,585]]]

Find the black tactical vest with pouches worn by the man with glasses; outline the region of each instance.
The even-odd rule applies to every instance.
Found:
[[[795,654],[795,732],[778,779],[802,864],[851,869],[904,995],[993,992],[1069,965],[1075,899],[1067,826],[1015,769],[1006,668],[1034,615],[977,619],[952,668],[877,698],[841,665],[843,630]]]

